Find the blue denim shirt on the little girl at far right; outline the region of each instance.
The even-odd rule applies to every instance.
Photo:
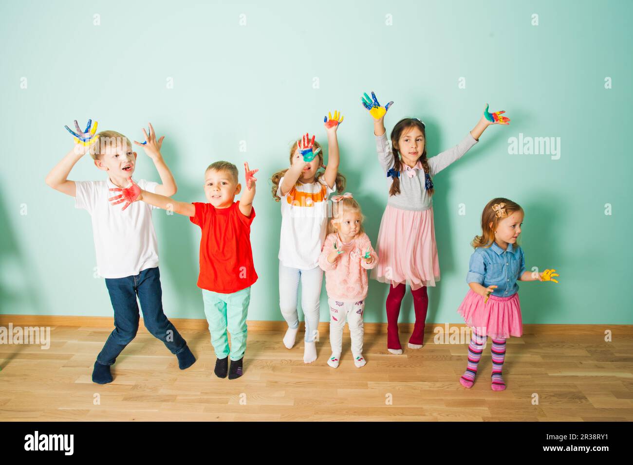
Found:
[[[492,295],[510,297],[518,291],[517,280],[525,271],[523,249],[508,244],[503,250],[496,242],[490,247],[477,247],[470,256],[467,283],[479,283],[484,287],[498,286]]]

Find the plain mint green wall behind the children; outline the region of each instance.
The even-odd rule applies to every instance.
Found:
[[[404,116],[427,123],[429,155],[456,144],[486,102],[512,120],[488,128],[434,179],[441,281],[430,289],[427,321],[460,321],[468,243],[479,233],[483,206],[502,195],[525,209],[527,265],[560,272],[558,285],[520,284],[523,321],[631,324],[633,162],[624,136],[633,115],[632,12],[629,1],[3,2],[1,311],[112,313],[103,279],[93,277],[89,215],[44,183],[72,147],[63,125],[93,118],[101,130],[130,139],[151,121],[166,135],[163,155],[182,201],[203,201],[203,172],[212,161],[260,169],[252,234],[260,280],[249,319],[281,319],[280,212],[267,178],[284,168],[289,143],[302,132],[325,142],[323,115],[341,110],[341,171],[375,244],[387,190],[360,104],[363,91],[375,90],[381,102],[395,101],[388,131]],[[166,89],[168,77],[173,89]],[[519,133],[560,137],[560,159],[508,154],[508,138]],[[155,179],[142,151],[139,160],[135,177]],[[84,158],[70,178],[103,175]],[[204,318],[199,229],[163,211],[154,212],[154,224],[166,313]],[[366,321],[385,321],[386,292],[371,282]],[[401,321],[413,321],[410,295]]]

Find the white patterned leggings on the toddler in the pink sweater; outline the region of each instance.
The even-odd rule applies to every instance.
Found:
[[[330,304],[330,345],[332,354],[341,355],[341,342],[345,317],[348,318],[349,335],[352,340],[352,354],[354,358],[363,353],[363,309],[365,301],[338,302],[327,299]]]

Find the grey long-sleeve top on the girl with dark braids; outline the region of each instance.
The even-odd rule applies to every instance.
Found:
[[[437,173],[444,170],[446,166],[460,159],[463,154],[468,152],[470,147],[477,144],[477,140],[472,137],[470,132],[464,137],[459,144],[450,149],[429,158],[429,175],[433,178]],[[376,150],[378,151],[378,160],[380,166],[385,171],[389,171],[394,166],[394,156],[391,151],[391,144],[387,140],[387,133],[376,136]],[[389,195],[387,205],[399,208],[401,210],[423,211],[433,206],[433,199],[427,190],[424,189],[424,170],[415,170],[415,176],[410,178],[402,171],[400,173],[400,194]],[[391,189],[392,178],[387,178],[389,189]],[[387,191],[388,192],[388,191]]]

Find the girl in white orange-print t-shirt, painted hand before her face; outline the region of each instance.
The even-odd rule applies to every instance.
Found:
[[[279,241],[279,307],[288,323],[284,345],[292,349],[299,330],[297,293],[301,280],[301,307],[306,319],[303,361],[316,360],[315,335],[320,317],[323,270],[318,257],[327,228],[327,197],[345,189],[345,177],[339,170],[339,142],[336,130],[342,117],[324,118],[327,131],[329,163],[314,137],[308,135],[293,145],[290,168],[272,177],[272,194],[281,204],[282,222]],[[325,171],[320,170],[325,168]]]

